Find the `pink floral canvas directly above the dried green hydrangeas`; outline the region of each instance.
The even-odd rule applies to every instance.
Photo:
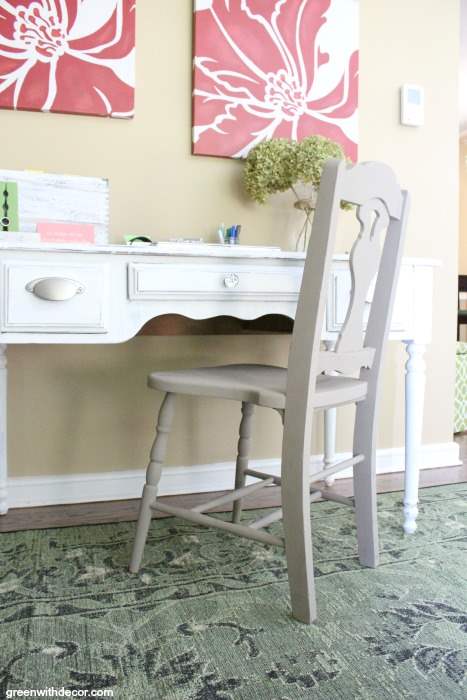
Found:
[[[195,0],[193,152],[319,134],[357,158],[358,0]]]

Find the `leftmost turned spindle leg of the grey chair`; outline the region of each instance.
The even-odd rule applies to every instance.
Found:
[[[143,496],[139,506],[138,523],[136,525],[136,535],[129,567],[132,573],[139,571],[143,558],[144,546],[152,518],[151,506],[156,502],[157,487],[161,478],[167,441],[172,426],[174,399],[174,394],[166,394],[159,411],[156,437],[151,449],[150,461],[146,471],[146,484],[143,488]]]

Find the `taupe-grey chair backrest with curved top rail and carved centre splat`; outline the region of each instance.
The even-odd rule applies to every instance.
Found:
[[[334,351],[320,351],[326,297],[342,201],[356,206],[360,231],[350,253],[352,289]],[[408,194],[383,163],[348,166],[329,160],[323,169],[289,354],[286,413],[308,413],[322,371],[357,371],[376,390],[402,255]],[[370,287],[373,299],[366,329]]]

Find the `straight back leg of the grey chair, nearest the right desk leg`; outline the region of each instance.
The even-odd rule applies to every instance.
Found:
[[[353,468],[355,520],[360,563],[371,568],[378,566],[379,563],[374,435],[374,404],[362,402],[357,405],[353,445],[354,455],[365,455],[364,461]]]

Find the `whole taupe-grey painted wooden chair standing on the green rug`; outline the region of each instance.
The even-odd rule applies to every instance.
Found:
[[[341,200],[356,205],[360,222],[360,231],[350,255],[352,293],[335,349],[321,351],[320,335]],[[377,566],[377,394],[383,346],[401,261],[407,204],[407,193],[401,191],[393,172],[386,165],[362,163],[347,166],[342,161],[328,161],[321,179],[305,261],[288,369],[231,365],[149,375],[149,386],[166,392],[166,395],[147,470],[130,571],[137,572],[141,565],[152,510],[267,544],[285,545],[292,612],[298,620],[310,623],[316,618],[310,503],[318,498],[355,506],[360,562],[364,566]],[[367,298],[374,281],[373,300],[365,328]],[[156,500],[176,394],[213,396],[242,403],[235,490],[191,509],[176,508]],[[313,412],[344,404],[357,406],[353,456],[310,475]],[[282,416],[284,436],[280,478],[248,468],[255,405],[275,409]],[[354,499],[345,499],[333,493],[331,488],[320,485],[316,488],[317,482],[349,466],[353,467]],[[256,481],[245,486],[247,476]],[[254,522],[241,521],[242,499],[269,484],[281,485],[282,509]],[[205,514],[232,501],[232,522]],[[265,530],[281,518],[284,539]]]

